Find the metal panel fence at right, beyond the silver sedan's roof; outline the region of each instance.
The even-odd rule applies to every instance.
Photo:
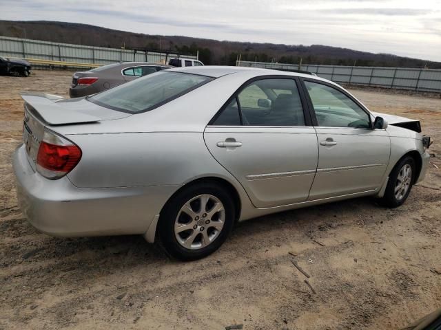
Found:
[[[340,65],[294,65],[237,61],[241,67],[265,69],[294,69],[314,72],[319,77],[347,85],[362,85],[413,91],[441,93],[440,69],[412,69],[407,67],[346,67]]]

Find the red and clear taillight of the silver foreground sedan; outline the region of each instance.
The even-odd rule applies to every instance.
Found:
[[[72,141],[45,130],[37,154],[37,171],[48,179],[68,174],[81,159],[81,149]]]

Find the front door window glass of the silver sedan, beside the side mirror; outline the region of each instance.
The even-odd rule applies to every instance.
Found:
[[[305,81],[318,126],[371,128],[369,115],[341,91]]]

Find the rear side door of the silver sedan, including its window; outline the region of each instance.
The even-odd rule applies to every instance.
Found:
[[[305,201],[318,162],[317,137],[298,81],[259,78],[240,88],[204,138],[258,208]]]

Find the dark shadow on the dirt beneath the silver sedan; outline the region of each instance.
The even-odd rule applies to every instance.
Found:
[[[270,214],[265,217],[250,219],[237,223],[232,235],[227,239],[223,248],[216,254],[221,256],[229,248],[242,245],[254,236],[265,234],[261,245],[253,245],[254,249],[265,248],[271,245],[281,234],[311,235],[314,228],[322,223],[342,223],[354,220],[357,217],[366,217],[374,212],[383,212],[371,198],[351,199],[328,203],[321,206],[311,206],[298,210],[289,210]],[[158,243],[149,244],[141,235],[101,236],[87,238],[59,238],[41,234],[23,218],[13,221],[3,221],[1,224],[3,235],[17,237],[23,241],[20,245],[6,245],[3,250],[3,267],[21,263],[47,263],[50,267],[63,269],[70,265],[79,265],[81,269],[93,269],[96,264],[105,265],[107,270],[119,267],[149,265],[152,263],[180,263],[163,252]],[[293,239],[296,237],[293,236]],[[41,267],[44,271],[44,267]],[[86,275],[86,274],[85,274]]]

